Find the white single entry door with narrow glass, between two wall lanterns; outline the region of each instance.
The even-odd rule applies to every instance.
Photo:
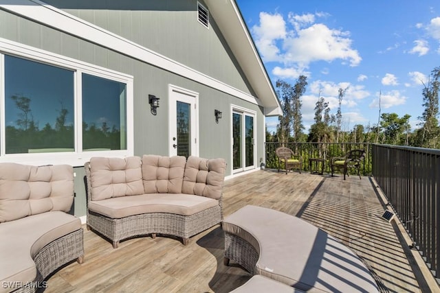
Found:
[[[169,86],[169,154],[199,156],[199,94]]]

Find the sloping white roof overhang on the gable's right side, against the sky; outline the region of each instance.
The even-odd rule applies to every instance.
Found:
[[[243,69],[257,97],[265,107],[265,115],[283,115],[263,61],[235,0],[205,0],[237,62]]]

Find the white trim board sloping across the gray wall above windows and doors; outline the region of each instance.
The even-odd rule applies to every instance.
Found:
[[[256,99],[256,97],[249,95],[248,93],[235,89],[224,82],[211,78],[204,73],[191,69],[190,67],[158,54],[155,51],[142,47],[131,40],[104,30],[102,27],[98,27],[92,23],[84,21],[83,19],[79,19],[63,10],[54,8],[52,5],[47,5],[42,1],[0,0],[0,9],[23,16],[27,19],[32,19],[43,25],[53,27],[55,30],[89,40],[91,43],[96,43],[102,47],[118,51],[121,54],[131,56],[142,62],[154,65],[155,67],[181,75],[184,78],[194,80],[195,82],[209,86],[212,89],[217,89],[223,93],[239,97],[252,104],[265,106],[259,99]]]

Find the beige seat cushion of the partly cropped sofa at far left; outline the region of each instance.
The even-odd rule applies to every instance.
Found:
[[[81,228],[81,221],[63,211],[50,211],[0,224],[0,284],[34,281],[32,260],[45,245]],[[0,292],[8,292],[0,285]]]

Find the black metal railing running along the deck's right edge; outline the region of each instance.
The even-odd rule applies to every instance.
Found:
[[[373,176],[438,279],[440,150],[373,145]]]

